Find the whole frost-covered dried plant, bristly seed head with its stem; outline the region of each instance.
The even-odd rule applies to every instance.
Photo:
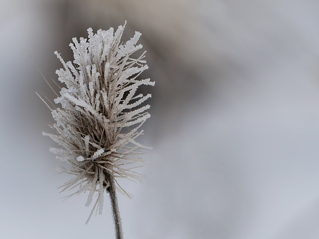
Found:
[[[102,213],[104,192],[110,194],[117,239],[123,238],[123,233],[115,190],[116,186],[121,187],[116,178],[138,179],[140,174],[133,168],[142,159],[136,155],[148,148],[137,143],[136,138],[143,133],[140,128],[150,117],[147,112],[150,105],[141,104],[151,94],[136,91],[140,85],[154,85],[150,79],[138,78],[148,69],[143,60],[145,52],[137,59],[132,58],[143,47],[136,45],[141,33],[135,32],[131,40],[122,44],[124,28],[125,25],[119,26],[115,33],[113,28],[100,29],[96,34],[89,28],[88,41],[73,38],[70,44],[73,64],[65,63],[55,52],[64,67],[56,74],[66,87],[54,99],[62,108],[45,102],[56,121],[51,125],[56,133],[43,133],[62,147],[50,149],[57,159],[69,163],[68,168],[61,168],[62,172],[74,176],[62,186],[62,191],[72,188],[77,188],[75,193],[89,191],[86,206],[97,193],[88,221],[94,210]]]

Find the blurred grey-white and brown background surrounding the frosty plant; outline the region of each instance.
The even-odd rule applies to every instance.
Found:
[[[72,37],[127,20],[143,33],[153,146],[119,194],[126,239],[319,238],[319,1],[11,0],[0,3],[0,238],[114,238],[109,199],[62,202],[36,96]],[[31,56],[31,58],[30,58]]]

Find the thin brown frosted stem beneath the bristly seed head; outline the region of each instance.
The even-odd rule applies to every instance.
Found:
[[[122,222],[119,212],[118,198],[116,196],[115,179],[111,177],[109,181],[110,186],[107,188],[107,191],[109,192],[111,199],[116,239],[123,239]]]

